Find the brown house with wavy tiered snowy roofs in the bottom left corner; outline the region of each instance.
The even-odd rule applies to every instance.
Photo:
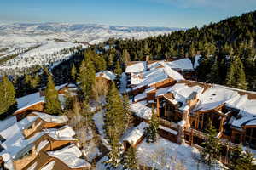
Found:
[[[90,164],[81,158],[78,140],[74,138],[75,132],[65,125],[66,122],[67,116],[32,112],[19,122],[7,123],[9,126],[0,132],[2,168],[43,169],[49,164],[52,168],[47,169],[90,167]],[[67,154],[59,156],[62,152]],[[73,161],[65,160],[67,157],[73,158]]]

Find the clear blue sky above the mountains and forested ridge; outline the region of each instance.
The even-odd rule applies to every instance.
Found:
[[[193,27],[256,10],[256,0],[1,0],[0,22]]]

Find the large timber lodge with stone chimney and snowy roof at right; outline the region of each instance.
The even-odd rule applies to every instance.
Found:
[[[217,138],[223,142],[223,156],[237,144],[256,149],[255,92],[188,80],[164,88],[147,88],[146,94],[150,90],[154,91],[150,97],[156,101],[162,137],[201,148],[212,123],[218,131]],[[152,116],[150,106],[145,97],[132,103],[131,111],[148,122]]]

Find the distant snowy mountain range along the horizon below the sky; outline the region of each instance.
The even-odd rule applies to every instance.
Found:
[[[105,41],[109,37],[144,38],[175,30],[178,30],[178,28],[65,23],[0,24],[0,45],[42,42],[48,39],[96,43]]]

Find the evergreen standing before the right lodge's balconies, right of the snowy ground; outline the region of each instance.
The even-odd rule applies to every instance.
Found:
[[[202,143],[203,149],[201,152],[201,159],[207,163],[208,166],[212,166],[212,163],[218,161],[220,156],[221,144],[216,138],[217,131],[212,126],[212,122],[209,123],[210,126],[207,129],[207,139]]]

